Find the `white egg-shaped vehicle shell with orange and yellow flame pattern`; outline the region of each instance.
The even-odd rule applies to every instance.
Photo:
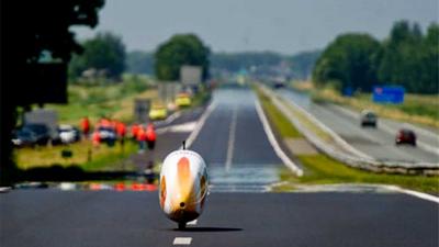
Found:
[[[206,165],[199,154],[183,149],[166,157],[160,171],[160,206],[179,227],[200,216],[207,190]]]

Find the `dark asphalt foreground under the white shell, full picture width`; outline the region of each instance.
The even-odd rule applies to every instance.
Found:
[[[3,247],[437,247],[438,205],[404,194],[212,193],[176,231],[155,192],[22,190],[0,194]]]

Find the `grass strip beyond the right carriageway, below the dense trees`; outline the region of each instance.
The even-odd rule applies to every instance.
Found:
[[[294,81],[292,87],[311,93],[315,102],[347,105],[357,111],[370,109],[383,117],[439,128],[439,94],[407,93],[402,104],[379,104],[372,102],[371,93],[344,97],[331,86],[316,89],[311,81]]]

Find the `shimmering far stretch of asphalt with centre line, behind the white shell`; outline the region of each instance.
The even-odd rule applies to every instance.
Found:
[[[256,111],[250,89],[219,89],[215,105],[190,147],[209,166],[213,191],[263,191],[279,181],[275,155]]]

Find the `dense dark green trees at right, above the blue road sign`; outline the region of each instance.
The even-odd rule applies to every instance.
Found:
[[[399,21],[383,42],[369,34],[342,34],[323,52],[313,70],[317,85],[336,83],[370,91],[374,85],[401,85],[409,92],[439,92],[439,25],[423,34]]]

